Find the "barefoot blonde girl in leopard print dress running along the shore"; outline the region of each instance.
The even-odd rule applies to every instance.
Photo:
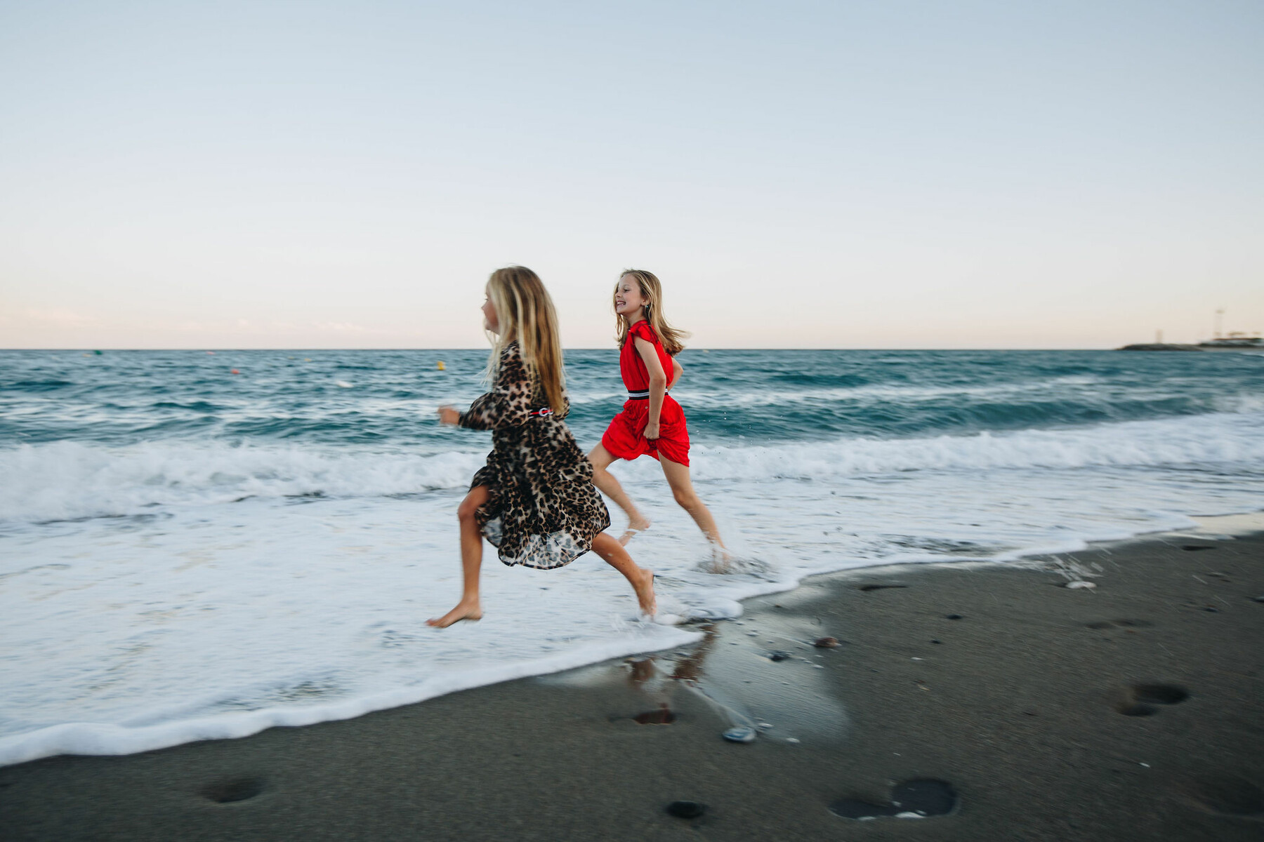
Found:
[[[552,299],[536,273],[492,273],[483,303],[492,340],[490,393],[468,412],[439,410],[439,420],[492,430],[492,453],[456,510],[463,593],[456,607],[427,620],[445,627],[483,616],[479,572],[483,539],[506,564],[562,567],[594,550],[632,584],[641,610],[655,612],[653,573],[637,567],[605,528],[611,515],[593,485],[593,466],[561,420],[570,408]]]

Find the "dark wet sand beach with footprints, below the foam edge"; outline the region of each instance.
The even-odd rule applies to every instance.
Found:
[[[1097,587],[1060,587],[1055,559],[818,577],[748,602],[741,625],[715,624],[685,654],[0,769],[0,837],[1264,838],[1264,537],[1160,535],[1060,559]],[[844,643],[806,645],[823,635]],[[726,742],[724,709],[689,679],[774,727]],[[1148,716],[1120,712],[1152,697]],[[662,704],[675,722],[632,720]],[[956,810],[829,809],[885,803],[911,779],[949,781]],[[678,799],[708,810],[674,818]]]

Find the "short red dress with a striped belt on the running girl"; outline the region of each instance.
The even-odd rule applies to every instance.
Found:
[[[619,351],[619,374],[623,375],[623,385],[629,395],[645,394],[645,398],[631,396],[623,404],[623,412],[611,420],[602,436],[602,447],[621,460],[635,460],[648,453],[653,458],[660,454],[666,456],[672,462],[689,465],[689,430],[685,429],[685,413],[680,404],[671,395],[662,396],[662,412],[659,413],[659,438],[650,441],[645,437],[645,425],[650,420],[650,372],[645,367],[645,360],[636,350],[637,337],[653,343],[653,350],[659,352],[659,362],[662,364],[662,372],[671,381],[671,355],[662,350],[659,336],[650,324],[641,319],[631,328]]]

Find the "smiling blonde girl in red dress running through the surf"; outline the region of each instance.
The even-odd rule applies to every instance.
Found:
[[[614,287],[614,314],[618,324],[619,372],[628,399],[602,436],[602,443],[588,458],[593,462],[593,483],[628,516],[627,531],[619,538],[627,544],[633,535],[648,529],[642,515],[605,468],[614,460],[652,456],[662,466],[676,502],[688,511],[707,539],[717,548],[717,560],[727,559],[724,542],[710,511],[698,499],[689,478],[689,432],[685,413],[667,390],[680,379],[681,367],[674,359],[689,336],[667,323],[662,314],[662,285],[651,271],[628,269]]]

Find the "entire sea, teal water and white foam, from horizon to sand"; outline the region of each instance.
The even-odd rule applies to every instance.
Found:
[[[435,409],[484,391],[485,357],[0,352],[0,764],[344,718],[695,639],[640,622],[593,554],[540,572],[490,548],[484,620],[425,625],[460,596],[455,511],[490,448]],[[622,404],[617,352],[566,361],[586,451]],[[612,470],[653,520],[629,550],[683,617],[738,616],[811,573],[1005,563],[1264,500],[1264,356],[680,361],[694,483],[734,572],[707,572],[656,462]]]

